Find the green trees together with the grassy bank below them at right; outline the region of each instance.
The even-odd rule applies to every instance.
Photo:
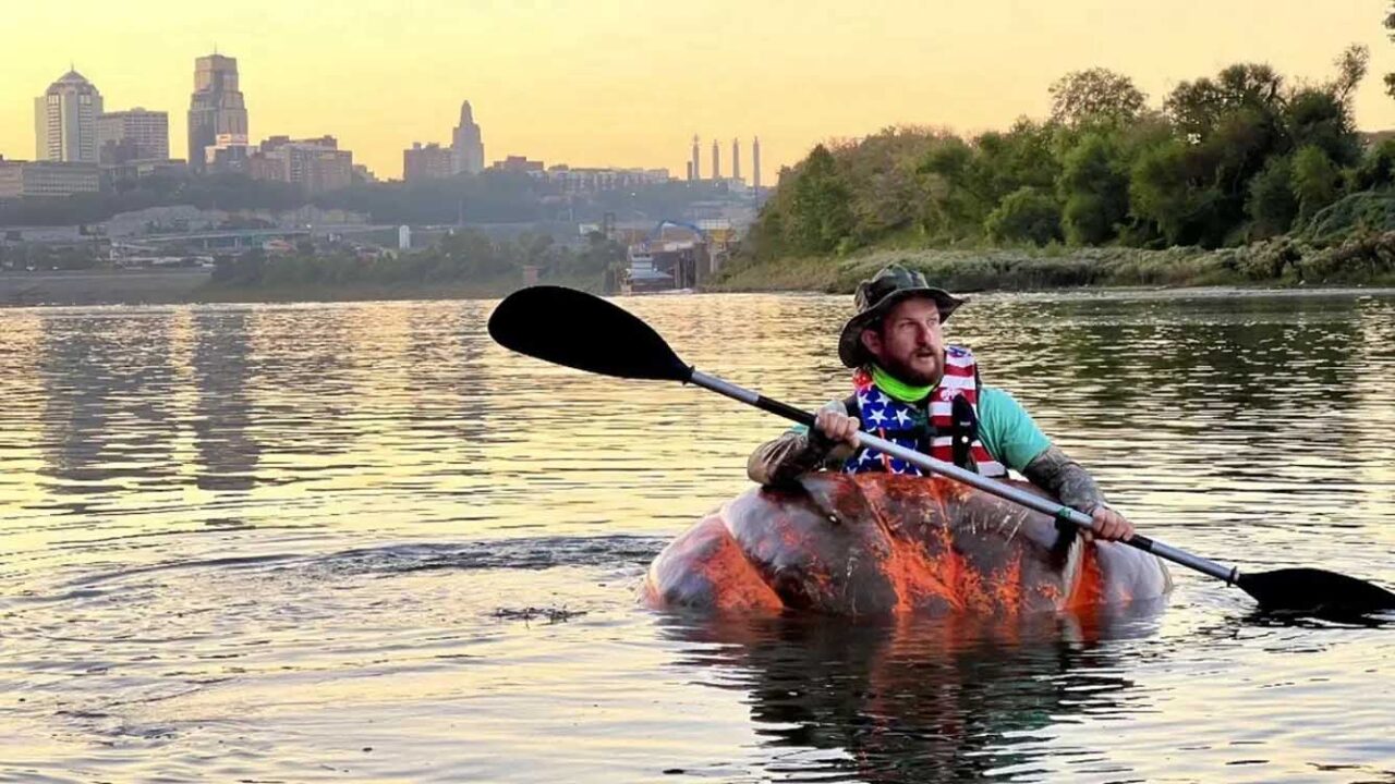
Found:
[[[960,290],[1395,282],[1395,134],[1352,113],[1368,61],[1350,46],[1324,82],[1237,63],[1156,105],[1091,68],[1045,120],[820,144],[707,287],[851,292],[893,261]]]

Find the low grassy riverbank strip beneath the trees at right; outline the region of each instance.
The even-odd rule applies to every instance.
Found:
[[[897,262],[950,290],[1081,286],[1381,286],[1395,285],[1395,232],[1315,247],[1282,237],[1239,248],[886,248],[847,258],[737,262],[711,292],[850,293]]]

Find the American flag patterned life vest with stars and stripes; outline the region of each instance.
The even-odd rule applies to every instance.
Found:
[[[995,460],[978,439],[978,365],[968,349],[944,349],[944,375],[919,405],[903,403],[887,395],[872,381],[872,374],[861,368],[854,372],[852,385],[857,393],[848,400],[848,413],[858,417],[864,431],[983,476],[1007,476],[1007,467]],[[929,403],[928,412],[925,403]],[[926,473],[869,448],[858,449],[843,470],[850,474]]]

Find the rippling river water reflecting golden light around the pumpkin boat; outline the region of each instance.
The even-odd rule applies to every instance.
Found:
[[[622,304],[813,407],[847,300]],[[1392,619],[1182,569],[1088,633],[639,607],[784,424],[509,354],[491,307],[0,311],[0,781],[1395,781]],[[1140,530],[1395,583],[1395,293],[947,326]]]

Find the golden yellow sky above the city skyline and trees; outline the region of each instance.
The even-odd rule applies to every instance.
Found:
[[[333,134],[379,177],[449,142],[462,99],[487,160],[667,166],[691,138],[760,135],[763,179],[820,140],[889,124],[958,130],[1043,116],[1060,74],[1105,66],[1156,102],[1240,61],[1322,80],[1371,47],[1362,128],[1395,127],[1384,0],[0,0],[0,155],[33,156],[33,98],[71,60],[107,110],[170,113],[186,155],[194,57],[237,57],[252,141]]]

